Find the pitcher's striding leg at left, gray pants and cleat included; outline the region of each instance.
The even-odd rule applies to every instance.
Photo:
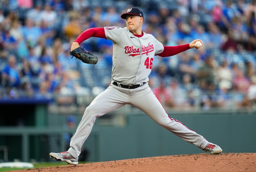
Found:
[[[129,90],[127,90],[128,92]],[[116,89],[116,86],[109,86],[85,109],[84,116],[76,129],[76,133],[70,140],[68,151],[64,153],[50,153],[50,157],[57,161],[64,161],[65,157],[68,157],[72,161],[65,161],[69,164],[76,165],[78,163],[78,156],[81,153],[81,147],[91,133],[96,118],[124,106],[128,101],[129,97],[125,91],[122,92]]]

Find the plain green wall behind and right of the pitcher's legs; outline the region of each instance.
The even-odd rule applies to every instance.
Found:
[[[245,113],[201,113],[173,114],[171,116],[188,128],[196,131],[208,141],[221,146],[223,153],[256,153],[256,114]],[[170,131],[157,125],[147,115],[127,116],[124,127],[95,126],[98,148],[88,145],[95,135],[84,144],[99,161],[205,153]],[[97,154],[98,153],[98,154]]]

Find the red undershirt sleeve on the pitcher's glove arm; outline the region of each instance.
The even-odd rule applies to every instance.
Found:
[[[97,38],[105,38],[105,31],[104,27],[94,27],[90,29],[86,29],[82,34],[80,34],[74,42],[80,44],[81,42],[87,40],[90,37],[97,37]]]

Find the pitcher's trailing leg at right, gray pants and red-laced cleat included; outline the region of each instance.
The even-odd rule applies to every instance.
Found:
[[[145,112],[156,123],[187,142],[211,153],[222,152],[219,146],[209,143],[203,136],[190,130],[180,121],[170,118],[148,85],[134,89],[131,103]]]

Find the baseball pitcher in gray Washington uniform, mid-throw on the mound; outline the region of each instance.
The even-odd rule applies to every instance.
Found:
[[[96,118],[125,104],[139,108],[156,123],[198,148],[212,154],[221,153],[220,146],[208,142],[180,121],[171,118],[148,86],[148,75],[156,55],[173,56],[188,49],[197,49],[196,41],[200,41],[202,45],[203,42],[198,39],[185,45],[163,46],[154,36],[142,31],[143,12],[140,9],[129,8],[121,18],[126,20],[126,27],[90,28],[73,42],[70,49],[73,56],[84,63],[96,64],[97,57],[81,48],[79,44],[90,37],[111,40],[113,42],[112,81],[108,88],[85,109],[76,133],[71,138],[68,151],[50,153],[50,157],[77,165],[81,147],[92,131]]]

